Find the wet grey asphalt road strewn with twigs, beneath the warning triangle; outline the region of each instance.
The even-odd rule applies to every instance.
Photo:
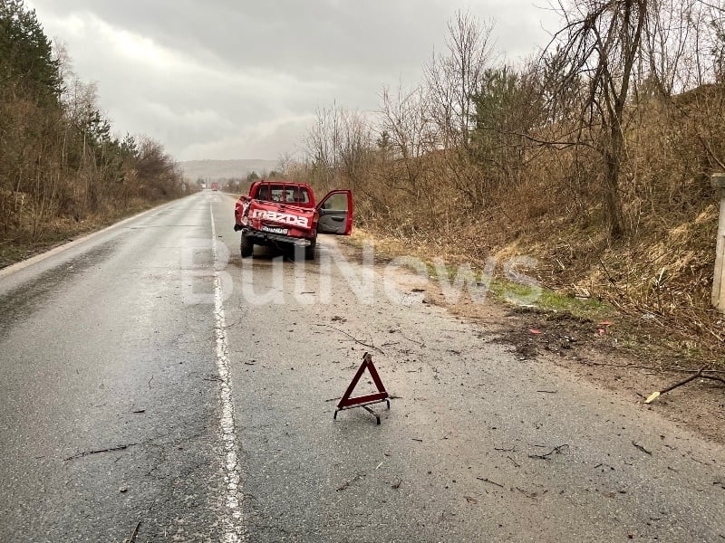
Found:
[[[725,541],[720,446],[232,207],[0,271],[0,541]],[[365,351],[397,397],[333,422]]]

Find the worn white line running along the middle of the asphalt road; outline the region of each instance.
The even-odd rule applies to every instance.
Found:
[[[237,431],[234,423],[234,404],[229,380],[229,347],[225,336],[227,321],[224,318],[221,278],[218,270],[217,227],[214,224],[211,203],[209,203],[209,214],[211,216],[211,252],[214,255],[214,331],[217,338],[217,369],[221,379],[221,386],[219,386],[219,403],[221,404],[219,429],[224,443],[224,502],[227,508],[222,519],[222,541],[223,543],[239,543],[247,538],[240,503],[242,495],[241,470],[237,456]]]

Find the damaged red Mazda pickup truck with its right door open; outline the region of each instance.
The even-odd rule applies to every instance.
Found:
[[[304,258],[313,260],[318,233],[353,232],[353,193],[333,190],[318,204],[305,183],[257,181],[239,196],[234,219],[235,231],[242,232],[242,258],[255,245],[281,245],[304,249]]]

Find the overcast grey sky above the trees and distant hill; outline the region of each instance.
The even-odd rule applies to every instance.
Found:
[[[26,0],[119,133],[179,160],[295,153],[314,111],[377,110],[412,85],[462,9],[516,61],[547,43],[546,0]]]

